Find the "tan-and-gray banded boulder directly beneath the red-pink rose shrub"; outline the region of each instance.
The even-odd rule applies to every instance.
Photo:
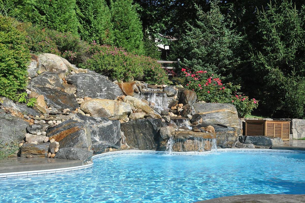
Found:
[[[234,127],[237,135],[240,135],[238,113],[234,105],[195,103],[193,106],[195,112],[201,116],[203,122]]]

